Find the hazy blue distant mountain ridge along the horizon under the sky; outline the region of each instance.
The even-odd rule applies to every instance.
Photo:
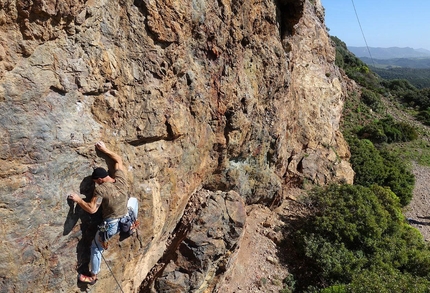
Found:
[[[390,48],[376,48],[376,47],[350,47],[351,51],[358,58],[369,57],[369,51],[374,59],[394,59],[394,58],[430,58],[430,51],[426,49],[414,49],[410,47],[390,47]]]

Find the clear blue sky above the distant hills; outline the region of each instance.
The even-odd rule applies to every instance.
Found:
[[[353,5],[354,2],[354,5]],[[321,0],[329,34],[364,47],[430,50],[430,0]]]

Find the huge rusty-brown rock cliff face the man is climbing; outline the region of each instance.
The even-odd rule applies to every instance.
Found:
[[[89,292],[117,288],[106,264],[125,292],[214,288],[245,204],[352,182],[334,58],[319,0],[0,0],[1,292],[84,289],[100,216],[66,195],[90,198],[110,166],[98,140],[122,155],[141,224]]]

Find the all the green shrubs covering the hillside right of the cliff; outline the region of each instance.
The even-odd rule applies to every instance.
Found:
[[[429,292],[430,248],[402,208],[411,198],[409,162],[430,166],[430,89],[384,80],[336,44],[336,64],[363,88],[345,102],[342,132],[356,172],[354,185],[316,187],[303,204],[310,216],[288,222],[287,239],[302,263],[282,292]],[[416,117],[387,115],[383,100]]]

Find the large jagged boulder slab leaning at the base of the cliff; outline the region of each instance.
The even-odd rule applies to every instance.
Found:
[[[234,191],[193,195],[168,250],[148,274],[141,292],[211,292],[230,267],[246,221]]]

